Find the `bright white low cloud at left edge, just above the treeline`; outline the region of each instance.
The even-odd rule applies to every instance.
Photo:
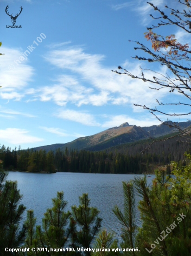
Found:
[[[7,141],[8,143],[19,145],[25,143],[36,143],[43,141],[43,139],[28,135],[29,131],[19,128],[6,128],[5,130],[0,130],[0,139]]]

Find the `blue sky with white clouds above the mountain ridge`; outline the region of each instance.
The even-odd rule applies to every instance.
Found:
[[[170,0],[152,2],[163,8]],[[12,25],[7,5],[13,16],[23,7],[15,23],[22,28],[6,27]],[[138,53],[128,40],[150,45],[144,38],[153,23],[150,13],[146,0],[0,0],[0,52],[5,54],[0,56],[0,144],[32,148],[126,121],[159,124],[133,104],[154,107],[155,99],[173,101],[177,95],[111,72],[118,65],[134,74],[140,74],[140,65],[149,67],[131,58]],[[162,32],[189,42],[177,28]],[[165,67],[154,68],[166,73]]]

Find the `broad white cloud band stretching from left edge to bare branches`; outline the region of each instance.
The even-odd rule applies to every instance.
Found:
[[[13,60],[19,59],[19,50],[2,48],[2,52],[6,53],[6,58],[5,55],[1,56],[3,61],[0,75],[0,85],[2,85],[0,97],[20,101],[27,95],[26,102],[53,101],[58,106],[67,106],[68,103],[78,107],[128,104],[134,108],[133,103],[151,106],[156,98],[160,100],[165,95],[164,91],[150,90],[142,81],[132,80],[127,75],[111,72],[111,69],[116,67],[103,65],[104,55],[88,54],[82,47],[77,46],[65,46],[64,48],[64,50],[53,49],[46,53],[45,60],[56,67],[58,72],[60,69],[60,74],[52,78],[53,82],[51,81],[50,85],[38,88],[28,87],[34,70],[27,64],[27,61],[23,61],[14,70],[8,69]],[[126,61],[126,65],[131,73],[141,74],[140,63],[136,62],[136,65],[132,65]],[[150,71],[146,71],[145,74],[150,78],[153,77]],[[141,111],[138,108],[134,109]],[[18,113],[18,115],[21,114]]]

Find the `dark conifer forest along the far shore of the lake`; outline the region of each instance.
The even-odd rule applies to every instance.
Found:
[[[167,166],[171,161],[185,165],[184,152],[190,153],[190,144],[173,140],[154,143],[150,150],[141,152],[146,147],[144,141],[124,144],[107,151],[69,150],[66,148],[56,152],[32,149],[11,150],[9,147],[0,148],[0,159],[6,170],[27,172],[84,172],[84,173],[117,173],[142,174],[152,173],[159,166]]]

